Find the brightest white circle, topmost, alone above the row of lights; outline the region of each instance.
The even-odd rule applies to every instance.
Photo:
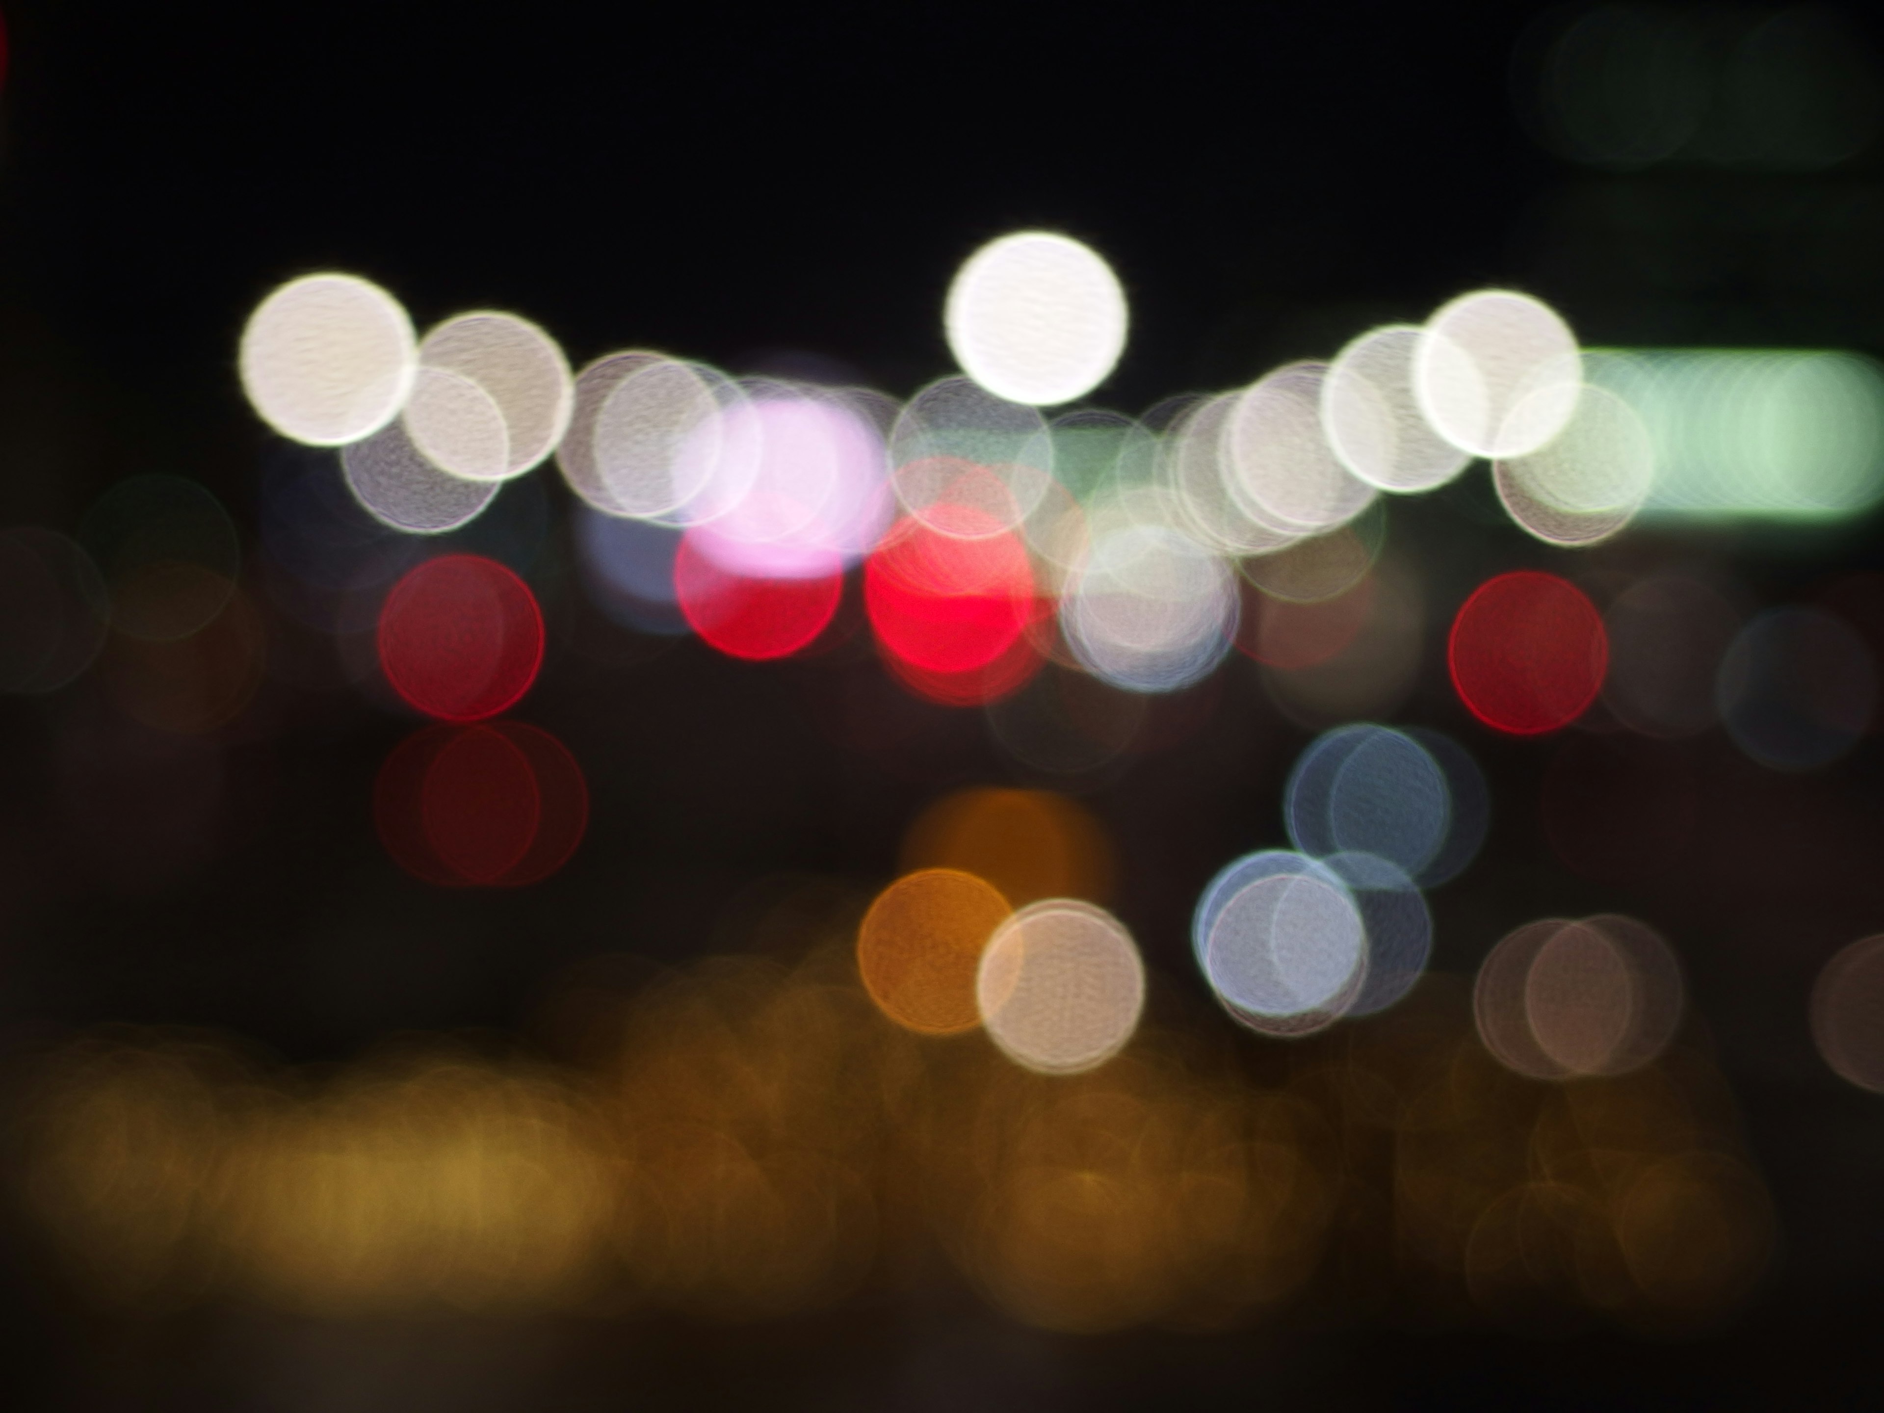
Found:
[[[1125,290],[1089,245],[1044,230],[968,256],[942,324],[961,369],[997,398],[1049,407],[1081,398],[1125,352]]]

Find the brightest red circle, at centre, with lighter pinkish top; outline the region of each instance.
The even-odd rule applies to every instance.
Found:
[[[884,652],[916,673],[961,676],[1002,661],[1036,612],[1019,535],[974,507],[950,507],[944,535],[901,520],[863,569],[863,603]]]

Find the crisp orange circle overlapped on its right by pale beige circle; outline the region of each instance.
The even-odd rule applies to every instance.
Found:
[[[921,869],[876,895],[857,929],[857,970],[870,1000],[921,1034],[974,1029],[982,950],[1014,910],[959,869]]]

